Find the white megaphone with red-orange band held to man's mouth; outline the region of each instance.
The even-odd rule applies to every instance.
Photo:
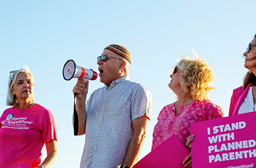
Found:
[[[84,80],[96,80],[98,74],[92,69],[86,69],[78,66],[74,60],[68,60],[63,66],[63,78],[71,80],[72,78],[83,78]]]

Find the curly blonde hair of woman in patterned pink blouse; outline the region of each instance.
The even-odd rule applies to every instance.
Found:
[[[193,99],[203,101],[209,97],[209,92],[214,89],[211,84],[216,77],[209,63],[200,59],[195,52],[193,54],[195,59],[190,59],[188,55],[185,55],[177,63],[177,67],[181,71],[180,85],[184,92]]]

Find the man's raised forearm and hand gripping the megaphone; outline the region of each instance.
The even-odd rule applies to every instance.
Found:
[[[81,136],[85,134],[86,127],[86,113],[85,113],[85,102],[86,95],[88,93],[89,81],[84,81],[83,79],[78,79],[76,86],[73,89],[73,94],[76,95],[76,111],[78,116],[78,133]],[[73,127],[74,127],[74,115],[73,115]]]

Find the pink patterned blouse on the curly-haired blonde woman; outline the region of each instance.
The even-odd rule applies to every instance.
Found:
[[[190,136],[189,124],[220,117],[223,117],[223,110],[209,100],[196,100],[191,104],[182,106],[177,116],[175,116],[174,103],[164,106],[159,113],[158,122],[154,128],[152,150],[172,135],[175,135],[179,137],[180,142],[190,152],[191,149],[186,146],[186,139]]]

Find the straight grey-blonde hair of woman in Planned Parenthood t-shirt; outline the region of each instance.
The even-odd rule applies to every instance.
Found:
[[[16,78],[17,78],[17,75],[19,73],[27,73],[29,74],[29,76],[31,77],[31,82],[35,85],[35,81],[34,81],[34,78],[33,78],[33,75],[30,71],[30,69],[28,68],[28,66],[24,66],[22,67],[21,69],[15,69],[13,71],[10,71],[10,76],[9,76],[9,80],[8,80],[8,93],[7,93],[7,98],[6,98],[6,105],[7,106],[17,106],[17,104],[19,103],[17,101],[17,98],[16,96],[12,93],[12,88],[13,88],[13,85],[16,81]],[[31,90],[31,101],[35,102],[35,93],[34,93],[34,90],[32,89]]]

